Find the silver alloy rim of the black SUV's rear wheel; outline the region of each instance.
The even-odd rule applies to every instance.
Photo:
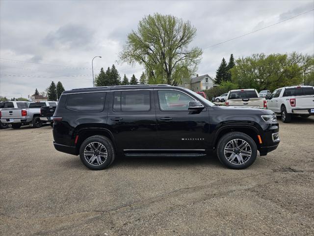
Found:
[[[107,159],[107,156],[107,149],[103,144],[98,142],[89,143],[84,149],[85,160],[93,166],[102,165]]]

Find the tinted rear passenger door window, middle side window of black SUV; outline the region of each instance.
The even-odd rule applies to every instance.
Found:
[[[113,110],[116,112],[149,111],[149,90],[121,91],[113,93]]]

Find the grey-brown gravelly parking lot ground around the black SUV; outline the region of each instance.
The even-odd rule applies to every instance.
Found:
[[[314,117],[280,122],[280,137],[246,170],[117,157],[90,171],[50,126],[0,130],[0,235],[314,235]]]

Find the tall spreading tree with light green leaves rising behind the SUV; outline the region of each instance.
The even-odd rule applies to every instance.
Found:
[[[201,60],[202,50],[188,47],[195,35],[196,28],[189,21],[159,13],[148,15],[128,34],[119,58],[144,65],[149,83],[178,85],[183,77],[194,74]]]

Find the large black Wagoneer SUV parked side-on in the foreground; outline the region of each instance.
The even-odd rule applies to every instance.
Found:
[[[216,106],[167,85],[64,91],[53,115],[55,149],[80,156],[92,170],[115,155],[202,156],[216,151],[229,168],[244,169],[279,145],[272,111]]]

